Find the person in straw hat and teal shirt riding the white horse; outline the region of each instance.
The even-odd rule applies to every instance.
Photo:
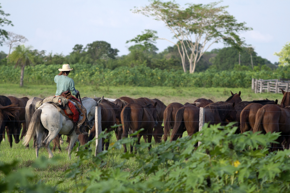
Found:
[[[58,75],[55,76],[54,81],[57,86],[57,90],[55,96],[63,96],[68,98],[70,101],[72,100],[72,95],[79,95],[79,91],[75,89],[75,82],[73,79],[68,77],[72,68],[70,68],[69,64],[62,65],[62,68],[58,69],[61,71]],[[84,106],[79,103],[77,100],[71,101],[77,105],[79,110],[79,121],[77,123],[77,134],[88,134],[85,130],[85,124],[83,124],[86,120],[86,109]]]

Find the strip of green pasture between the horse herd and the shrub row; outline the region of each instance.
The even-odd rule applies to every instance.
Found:
[[[94,86],[94,85],[76,85],[76,89],[80,91],[81,97],[87,96],[93,98],[97,97],[105,98],[119,98],[122,96],[128,96],[132,98],[147,97],[158,98],[168,105],[172,102],[193,102],[197,98],[207,98],[213,101],[225,101],[233,93],[241,91],[241,98],[243,101],[251,100],[263,100],[268,98],[269,100],[278,99],[278,103],[281,102],[283,95],[275,93],[253,93],[251,88],[199,88],[199,87],[130,87],[130,86]],[[19,84],[7,84],[0,85],[0,95],[16,96],[28,98],[39,97],[45,98],[55,95],[55,85],[33,85],[25,84],[22,88]]]

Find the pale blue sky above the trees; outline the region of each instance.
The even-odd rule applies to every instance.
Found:
[[[208,0],[180,0],[185,3],[210,3]],[[171,31],[161,21],[151,17],[134,14],[134,6],[148,5],[145,0],[107,0],[107,1],[1,1],[2,9],[11,15],[8,17],[14,27],[2,27],[5,30],[21,34],[28,38],[26,45],[38,50],[67,55],[75,44],[86,45],[93,41],[107,41],[111,47],[120,50],[119,56],[128,54],[126,41],[144,29],[156,30],[160,38],[171,39]],[[290,1],[269,0],[225,0],[220,5],[229,5],[227,9],[238,22],[246,22],[253,30],[242,33],[246,43],[251,44],[258,55],[272,63],[278,61],[274,52],[290,41]],[[176,41],[176,40],[174,40]],[[172,44],[158,40],[156,46],[163,51]],[[223,44],[210,47],[222,48]],[[8,47],[0,48],[8,53]]]

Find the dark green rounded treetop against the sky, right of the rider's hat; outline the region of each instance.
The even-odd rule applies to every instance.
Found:
[[[86,49],[87,53],[91,55],[93,60],[97,60],[104,57],[104,54],[109,58],[115,59],[117,56],[118,49],[111,48],[111,45],[106,41],[94,41],[93,43],[87,44]]]

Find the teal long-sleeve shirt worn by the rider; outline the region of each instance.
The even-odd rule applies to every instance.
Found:
[[[76,95],[77,91],[75,90],[75,82],[73,79],[69,78],[68,76],[64,75],[56,75],[55,76],[55,83],[56,83],[56,93],[55,96],[61,95],[61,93],[70,90],[72,95]]]

